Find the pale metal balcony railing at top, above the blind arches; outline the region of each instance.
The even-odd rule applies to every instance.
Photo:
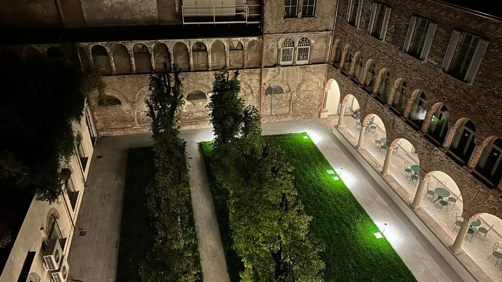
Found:
[[[183,24],[260,24],[261,5],[183,5]]]

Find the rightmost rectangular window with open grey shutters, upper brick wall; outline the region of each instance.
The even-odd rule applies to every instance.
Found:
[[[441,64],[441,70],[472,84],[487,48],[488,41],[454,30]]]

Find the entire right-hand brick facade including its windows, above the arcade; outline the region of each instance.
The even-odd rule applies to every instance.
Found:
[[[383,120],[390,149],[399,138],[413,144],[417,197],[435,171],[454,179],[466,220],[502,217],[501,30],[498,18],[434,2],[342,0],[336,18],[328,79],[339,86],[340,107],[355,97],[363,124],[370,114]],[[462,135],[471,137],[459,153]]]

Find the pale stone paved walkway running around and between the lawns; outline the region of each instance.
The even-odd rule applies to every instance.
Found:
[[[389,224],[386,235],[419,281],[462,281],[437,250],[402,213],[385,191],[371,179],[331,132],[336,121],[306,119],[264,124],[264,134],[309,131],[312,140],[335,169],[343,167],[342,179],[376,224]],[[213,138],[210,128],[183,130],[188,144],[190,181],[196,231],[205,282],[227,282],[226,265],[215,218],[212,196],[198,143]],[[77,229],[85,236],[73,240],[70,277],[84,282],[114,282],[118,250],[123,180],[127,149],[151,145],[149,134],[101,139],[94,151]]]

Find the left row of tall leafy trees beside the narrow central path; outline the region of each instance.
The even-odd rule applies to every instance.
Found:
[[[155,181],[145,190],[147,205],[155,218],[154,247],[141,264],[145,282],[200,281],[196,235],[192,228],[190,183],[186,143],[179,136],[180,108],[183,106],[183,85],[174,69],[171,76],[155,72],[150,76],[150,97],[146,100],[152,118],[154,139]]]

